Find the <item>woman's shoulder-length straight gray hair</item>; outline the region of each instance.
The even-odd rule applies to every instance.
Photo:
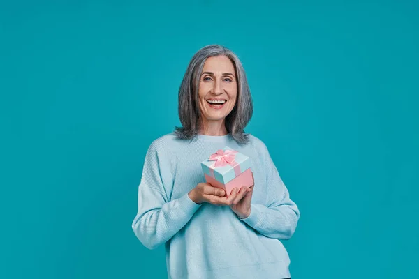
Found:
[[[211,56],[227,56],[235,67],[237,76],[237,101],[233,110],[226,116],[226,129],[239,144],[247,144],[249,134],[244,127],[253,114],[253,101],[246,73],[238,57],[228,48],[221,45],[207,45],[193,55],[182,84],[179,88],[179,119],[182,127],[175,127],[175,134],[181,139],[193,139],[198,135],[202,123],[199,108],[199,83],[205,61]]]

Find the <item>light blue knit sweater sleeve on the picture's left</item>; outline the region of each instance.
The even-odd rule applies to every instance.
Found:
[[[172,154],[169,156],[162,147],[153,142],[145,156],[138,186],[138,213],[132,223],[135,236],[149,249],[171,239],[200,207],[188,193],[169,201],[165,184],[172,185]]]

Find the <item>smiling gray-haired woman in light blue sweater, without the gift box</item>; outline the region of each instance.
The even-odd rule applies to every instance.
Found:
[[[242,63],[220,45],[191,59],[179,89],[182,127],[154,140],[138,188],[133,230],[154,249],[165,243],[169,278],[289,278],[289,239],[300,212],[267,147],[244,133],[253,103]],[[200,163],[230,147],[249,156],[253,186],[204,183]]]

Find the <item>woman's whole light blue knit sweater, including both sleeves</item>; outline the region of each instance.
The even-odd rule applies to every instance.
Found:
[[[205,182],[200,163],[225,146],[251,160],[255,186],[246,219],[230,206],[196,204],[188,196]],[[149,146],[132,227],[149,249],[165,243],[169,279],[279,279],[290,277],[290,259],[280,240],[293,235],[299,217],[258,138],[250,135],[249,144],[240,146],[230,135],[199,135],[191,142],[171,133]]]

